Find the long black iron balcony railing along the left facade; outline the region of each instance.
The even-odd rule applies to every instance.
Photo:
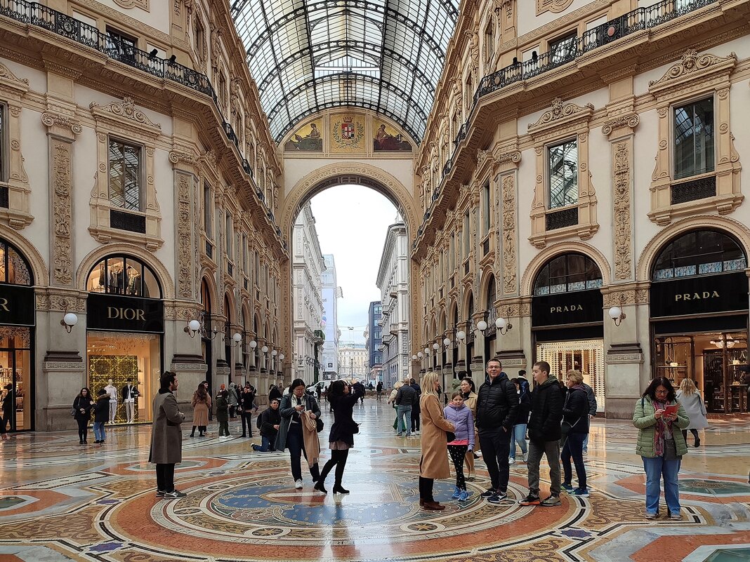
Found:
[[[183,64],[179,64],[175,61],[174,55],[170,58],[160,58],[155,55],[155,51],[145,52],[135,46],[118,43],[113,37],[110,37],[107,32],[100,31],[95,26],[89,25],[80,19],[75,19],[74,17],[68,16],[68,14],[59,12],[58,10],[52,10],[52,8],[46,7],[37,2],[30,2],[27,0],[0,0],[0,16],[6,16],[17,22],[34,25],[35,27],[52,31],[52,33],[75,41],[80,45],[95,49],[96,51],[107,55],[107,57],[123,64],[127,64],[136,70],[140,70],[160,79],[175,82],[176,84],[186,86],[199,94],[211,97],[217,112],[219,115],[222,115],[216,92],[214,91],[211,82],[208,80],[208,76],[205,76],[205,74],[199,73],[192,68],[188,68]],[[245,173],[251,179],[251,184],[255,185],[254,172],[250,163],[248,163],[248,160],[242,156],[239,137],[235,133],[232,125],[224,120],[223,116],[221,116],[221,129],[223,130],[226,139],[237,148],[237,154],[242,169],[245,170]],[[267,212],[270,212],[266,207],[265,198],[260,196],[259,199],[260,204],[266,208]],[[277,234],[281,232],[273,220],[272,224],[275,227],[274,231]],[[287,250],[284,241],[282,241],[282,245],[284,246],[284,250]]]

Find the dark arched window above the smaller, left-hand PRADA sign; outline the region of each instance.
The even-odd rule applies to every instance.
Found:
[[[601,271],[596,263],[579,253],[563,254],[550,259],[539,270],[534,294],[570,293],[601,287]]]

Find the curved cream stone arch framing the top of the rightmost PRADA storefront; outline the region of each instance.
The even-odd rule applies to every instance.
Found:
[[[716,215],[698,215],[697,217],[688,217],[678,220],[666,229],[655,235],[638,258],[638,265],[635,270],[635,279],[637,281],[651,280],[651,265],[658,255],[659,250],[664,247],[672,238],[681,235],[683,232],[689,232],[696,229],[718,230],[726,232],[742,244],[745,250],[745,256],[750,257],[750,229],[739,221],[727,218],[717,217]]]

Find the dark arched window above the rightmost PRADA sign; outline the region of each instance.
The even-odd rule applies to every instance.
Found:
[[[673,238],[654,262],[652,281],[742,271],[747,257],[739,243],[715,230],[694,230]]]

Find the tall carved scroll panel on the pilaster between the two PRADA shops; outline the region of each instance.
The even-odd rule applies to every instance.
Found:
[[[630,152],[630,140],[617,142],[613,147],[614,277],[616,280],[630,278],[633,262],[631,253]]]

